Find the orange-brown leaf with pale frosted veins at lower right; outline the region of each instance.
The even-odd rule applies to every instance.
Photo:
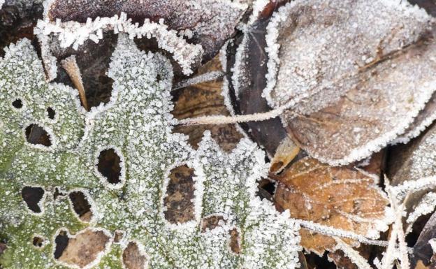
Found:
[[[286,169],[278,180],[275,203],[291,217],[314,221],[361,235],[376,235],[386,226],[388,200],[375,178],[350,167],[332,167],[309,157]],[[301,245],[322,256],[333,251],[333,238],[300,230]],[[350,243],[350,241],[347,241]]]

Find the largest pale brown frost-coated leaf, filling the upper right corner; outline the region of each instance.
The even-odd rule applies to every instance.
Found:
[[[350,4],[354,8],[349,8]],[[326,103],[331,103],[328,99],[336,99],[340,92],[349,91],[334,105],[307,116],[292,113],[284,116],[289,132],[312,157],[338,165],[369,156],[404,133],[435,91],[436,44],[432,37],[422,39],[430,25],[430,17],[425,13],[420,16],[421,11],[416,8],[400,4],[385,5],[382,1],[370,4],[368,1],[335,1],[335,4],[326,1],[326,6],[323,5],[325,8],[301,13],[298,17],[299,21],[311,22],[310,26],[305,27],[303,22],[297,23],[297,26],[286,24],[287,31],[292,30],[291,36],[317,31],[319,34],[315,39],[325,40],[325,44],[329,44],[314,45],[308,52],[305,52],[307,46],[304,46],[304,51],[296,49],[303,48],[298,44],[303,44],[306,38],[312,38],[309,35],[291,43],[293,50],[281,48],[280,52],[284,50],[283,53],[291,54],[291,58],[286,59],[301,59],[299,57],[302,57],[303,52],[313,54],[314,57],[310,59],[315,62],[310,60],[307,64],[312,64],[317,70],[314,73],[304,71],[303,75],[298,73],[296,81],[292,80],[293,85],[309,83],[301,89],[302,92],[293,95],[296,100],[299,100],[300,95],[313,98],[307,101],[307,106],[296,106],[291,110],[301,113],[316,111]],[[307,5],[300,4],[289,8],[287,13],[299,14],[298,10],[305,8]],[[362,12],[355,15],[352,10]],[[350,20],[341,20],[344,15],[351,16]],[[384,20],[379,17],[384,17]],[[322,27],[326,21],[333,24],[329,31],[339,31],[344,38],[319,32],[317,27]],[[350,26],[351,22],[356,29]],[[285,39],[289,41],[290,38],[286,36]],[[333,40],[330,38],[335,40],[335,45],[331,45]],[[298,52],[293,53],[295,50]],[[323,64],[324,60],[330,64]],[[306,62],[305,58],[295,64],[299,63],[298,68],[305,70],[307,64],[303,62]],[[275,91],[281,94],[277,94],[277,99],[283,96],[280,89],[289,85],[289,80],[280,79],[281,76],[294,68],[297,67],[286,66],[281,71],[280,66]],[[313,84],[310,83],[314,81],[317,81],[317,86],[311,87]],[[316,94],[307,92],[312,91],[312,88]]]

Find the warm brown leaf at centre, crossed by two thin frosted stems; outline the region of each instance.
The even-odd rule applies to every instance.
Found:
[[[212,71],[221,71],[221,63],[215,57],[199,69],[199,74]],[[174,110],[172,114],[177,119],[186,119],[201,115],[229,115],[224,98],[221,95],[222,80],[203,82],[185,87],[175,92]],[[203,138],[204,131],[209,130],[212,138],[217,141],[223,150],[231,151],[242,138],[242,134],[235,125],[203,125],[203,126],[175,126],[174,132],[189,136],[189,143],[195,148]]]

